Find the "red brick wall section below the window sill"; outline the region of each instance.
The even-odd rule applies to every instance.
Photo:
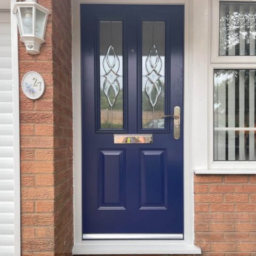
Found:
[[[195,243],[203,255],[256,255],[256,175],[195,175]]]

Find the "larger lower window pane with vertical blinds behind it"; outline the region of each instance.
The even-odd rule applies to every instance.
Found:
[[[214,70],[214,161],[255,161],[255,69]]]

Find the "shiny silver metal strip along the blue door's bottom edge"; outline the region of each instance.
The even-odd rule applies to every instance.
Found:
[[[183,234],[83,234],[83,239],[183,239]]]

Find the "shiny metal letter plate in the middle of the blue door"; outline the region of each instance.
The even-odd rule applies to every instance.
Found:
[[[114,144],[145,143],[153,143],[153,134],[114,134]]]

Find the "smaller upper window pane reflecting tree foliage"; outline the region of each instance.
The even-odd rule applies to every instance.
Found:
[[[220,2],[220,55],[255,55],[256,3]]]

